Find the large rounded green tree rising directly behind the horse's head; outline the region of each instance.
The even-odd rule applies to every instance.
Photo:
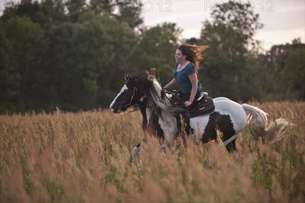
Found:
[[[124,79],[126,70],[135,68],[131,58],[137,37],[126,23],[93,11],[80,15],[73,33],[71,57],[73,69],[81,74],[83,95],[90,107],[108,106],[110,98],[105,99],[105,95],[117,93],[111,84]]]

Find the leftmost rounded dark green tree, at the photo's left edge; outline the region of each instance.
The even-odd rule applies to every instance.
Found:
[[[43,32],[38,23],[25,16],[16,16],[1,24],[1,58],[4,60],[1,63],[1,82],[8,87],[8,104],[13,102],[24,110],[31,105],[27,98],[37,96],[38,90],[33,84],[37,84],[35,78],[41,72],[38,53],[44,43]]]

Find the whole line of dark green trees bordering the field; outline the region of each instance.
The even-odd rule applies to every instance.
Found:
[[[198,79],[213,98],[304,100],[305,44],[253,40],[263,24],[250,6],[218,5],[200,38],[182,39],[175,23],[145,26],[134,0],[7,5],[0,17],[0,113],[106,108],[124,73],[157,68],[160,82],[169,82],[181,43],[210,46]]]

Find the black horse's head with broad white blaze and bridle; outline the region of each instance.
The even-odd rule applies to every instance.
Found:
[[[148,76],[148,71],[142,71],[133,76],[125,74],[126,83],[110,104],[111,111],[120,113],[126,111],[128,107],[143,102],[145,97],[144,89],[147,86],[147,82],[151,83]]]

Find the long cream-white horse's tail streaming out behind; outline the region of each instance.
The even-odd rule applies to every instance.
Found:
[[[273,142],[284,136],[283,128],[288,125],[287,120],[277,119],[275,122],[270,122],[267,127],[268,120],[266,112],[248,104],[241,104],[241,106],[245,111],[251,113],[248,115],[248,126],[253,139],[259,140],[261,137],[263,142],[267,140]]]

